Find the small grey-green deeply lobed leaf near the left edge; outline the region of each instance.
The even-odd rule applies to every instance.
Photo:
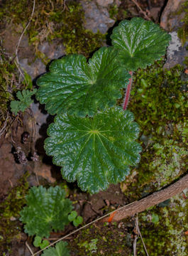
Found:
[[[22,90],[16,93],[16,97],[18,100],[11,101],[11,112],[14,114],[18,114],[19,111],[24,112],[27,107],[31,105],[33,100],[31,100],[31,96],[35,94],[37,89],[33,91]]]

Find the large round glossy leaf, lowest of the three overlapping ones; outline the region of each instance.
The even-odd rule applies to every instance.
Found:
[[[62,177],[77,180],[82,191],[97,193],[109,183],[123,181],[129,166],[140,161],[141,147],[134,142],[139,128],[133,114],[121,107],[93,118],[59,115],[50,124],[45,151],[62,167]]]

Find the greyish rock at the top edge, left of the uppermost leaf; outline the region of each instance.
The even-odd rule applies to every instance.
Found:
[[[101,6],[98,7],[94,1],[81,1],[85,12],[86,22],[84,27],[96,33],[106,33],[108,29],[114,25],[115,21],[109,18],[109,11]]]

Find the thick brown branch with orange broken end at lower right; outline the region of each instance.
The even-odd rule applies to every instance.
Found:
[[[145,209],[155,206],[158,203],[161,203],[173,196],[176,196],[178,193],[182,192],[185,188],[188,187],[188,174],[183,178],[180,178],[179,181],[176,181],[167,188],[162,189],[161,191],[157,191],[150,196],[147,196],[140,201],[135,201],[128,205],[127,207],[123,207],[121,209],[116,210],[116,214],[114,215],[113,221],[119,221],[123,218],[135,215],[136,213],[140,213]],[[102,219],[103,222],[108,221],[109,218]]]

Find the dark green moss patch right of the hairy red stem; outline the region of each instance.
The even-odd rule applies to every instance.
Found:
[[[156,132],[170,122],[179,122],[187,115],[187,81],[182,80],[184,68],[176,65],[163,70],[162,60],[145,70],[138,70],[129,108],[135,113],[143,133]],[[139,106],[139,107],[138,107]]]

